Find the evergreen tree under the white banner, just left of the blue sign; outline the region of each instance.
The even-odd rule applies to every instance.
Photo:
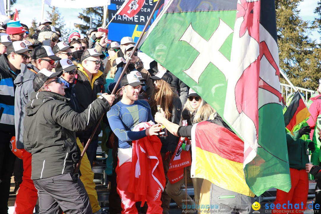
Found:
[[[84,8],[82,13],[79,13],[78,18],[81,19],[85,24],[75,24],[75,27],[80,29],[82,34],[86,34],[86,30],[90,27],[90,17],[92,17],[92,28],[101,27],[104,22],[103,11],[103,7]]]

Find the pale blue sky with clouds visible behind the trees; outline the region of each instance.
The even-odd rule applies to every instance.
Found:
[[[314,9],[317,7],[317,0],[304,0],[301,2],[299,9],[300,16],[303,20],[313,20],[315,14],[313,13]],[[17,3],[13,5],[13,9],[20,9],[19,18],[22,23],[31,26],[31,21],[35,18],[38,22],[41,19],[41,0],[17,0]],[[47,11],[49,6],[45,4],[44,18],[48,18]],[[83,23],[82,20],[78,19],[77,16],[82,9],[68,9],[68,8],[59,8],[62,16],[65,19],[66,27],[74,29],[74,23]],[[318,32],[313,32],[310,36],[312,39],[320,39]]]

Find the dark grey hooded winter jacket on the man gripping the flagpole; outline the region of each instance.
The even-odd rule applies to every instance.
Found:
[[[96,124],[110,109],[105,98],[98,98],[78,114],[66,100],[54,92],[33,92],[25,106],[23,144],[32,154],[32,180],[72,173],[80,157],[75,132]]]

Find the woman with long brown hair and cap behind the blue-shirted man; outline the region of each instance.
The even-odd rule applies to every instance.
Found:
[[[152,93],[152,98],[150,99],[150,106],[152,109],[152,114],[155,115],[157,112],[157,105],[163,109],[165,117],[172,123],[179,124],[181,117],[182,103],[178,97],[175,88],[170,85],[173,80],[172,76],[167,72],[158,72],[155,76],[150,77],[154,80],[155,89]],[[185,191],[181,190],[181,186],[185,179],[171,184],[167,177],[167,172],[169,169],[169,162],[172,158],[173,153],[176,150],[179,138],[171,133],[168,133],[167,137],[160,137],[162,142],[162,148],[160,150],[163,167],[166,177],[166,187],[161,195],[163,214],[169,213],[169,203],[171,198],[177,203],[178,206],[183,207],[183,204],[188,203],[191,213],[195,212],[195,209],[191,208],[194,205],[193,200],[187,195],[187,202],[185,202]]]

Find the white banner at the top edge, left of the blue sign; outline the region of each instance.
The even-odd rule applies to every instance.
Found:
[[[108,4],[108,0],[88,1],[88,0],[44,0],[45,4],[63,8],[87,8],[100,7]]]

